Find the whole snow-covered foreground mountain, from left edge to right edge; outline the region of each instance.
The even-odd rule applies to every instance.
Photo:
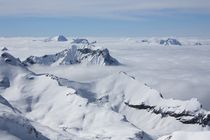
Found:
[[[152,140],[176,130],[209,130],[209,112],[196,99],[165,99],[125,72],[80,83],[35,74],[8,53],[0,62],[1,83],[9,83],[2,84],[3,104],[31,122],[43,139]]]

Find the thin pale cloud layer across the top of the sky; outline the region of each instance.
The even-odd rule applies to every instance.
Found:
[[[0,0],[0,16],[135,18],[165,10],[210,13],[209,0]]]

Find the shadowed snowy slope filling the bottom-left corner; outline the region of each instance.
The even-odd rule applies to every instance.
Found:
[[[0,95],[0,136],[1,139],[48,140],[33,126],[33,121],[24,117]]]

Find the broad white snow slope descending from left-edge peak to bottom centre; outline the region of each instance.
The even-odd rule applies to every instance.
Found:
[[[76,136],[91,140],[150,139],[123,115],[96,103],[89,103],[87,98],[77,95],[75,89],[59,85],[48,75],[36,75],[28,71],[9,54],[4,53],[2,56],[1,76],[10,81],[10,86],[3,89],[2,96],[27,118],[58,134],[65,133],[70,139]],[[42,130],[43,134],[45,131]],[[58,136],[50,138],[57,139]]]

